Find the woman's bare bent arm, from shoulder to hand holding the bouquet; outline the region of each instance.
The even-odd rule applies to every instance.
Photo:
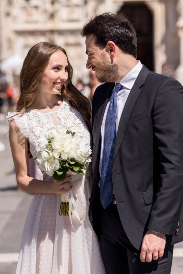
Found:
[[[20,132],[14,119],[9,125],[9,142],[16,171],[18,186],[32,193],[66,193],[71,190],[71,177],[66,176],[63,182],[56,180],[41,181],[29,176],[27,138]]]

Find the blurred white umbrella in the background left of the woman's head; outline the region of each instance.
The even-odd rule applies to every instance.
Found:
[[[5,59],[0,63],[0,68],[2,70],[9,70],[9,69],[20,69],[23,65],[23,58],[15,53],[11,55],[9,58]]]

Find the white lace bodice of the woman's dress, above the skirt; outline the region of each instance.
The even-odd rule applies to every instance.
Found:
[[[7,118],[15,115],[10,112]],[[65,126],[68,130],[85,136],[91,143],[90,133],[83,116],[78,111],[70,107],[67,100],[63,100],[62,106],[54,112],[42,113],[27,109],[23,114],[12,117],[15,119],[16,125],[30,142],[30,153],[33,158],[37,155],[38,137],[44,135],[48,128],[54,125]],[[12,119],[11,118],[11,119]],[[11,120],[9,119],[9,121]],[[38,163],[37,163],[38,164]],[[50,180],[52,177],[43,173],[43,180]]]

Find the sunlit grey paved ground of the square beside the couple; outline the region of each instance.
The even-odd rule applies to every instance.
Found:
[[[0,114],[0,138],[6,147],[0,152],[0,274],[15,274],[23,224],[33,195],[17,189],[8,136],[3,137],[7,132]],[[179,243],[174,248],[171,274],[182,273],[183,243]]]

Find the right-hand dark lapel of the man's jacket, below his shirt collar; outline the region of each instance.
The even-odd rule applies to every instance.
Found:
[[[120,122],[119,122],[119,126],[118,126],[118,132],[117,132],[117,136],[116,136],[116,144],[115,144],[115,149],[114,149],[114,157],[113,157],[113,161],[116,158],[117,152],[120,148],[121,142],[123,140],[126,128],[127,128],[127,124],[128,124],[128,120],[130,118],[131,115],[131,111],[135,105],[135,102],[139,96],[139,94],[141,93],[140,87],[143,85],[143,83],[145,82],[145,79],[147,77],[147,75],[149,74],[149,69],[147,69],[144,65],[141,69],[141,71],[138,74],[137,79],[135,80],[135,83],[128,95],[126,104],[124,106],[123,112],[121,114],[121,118],[120,118]]]

